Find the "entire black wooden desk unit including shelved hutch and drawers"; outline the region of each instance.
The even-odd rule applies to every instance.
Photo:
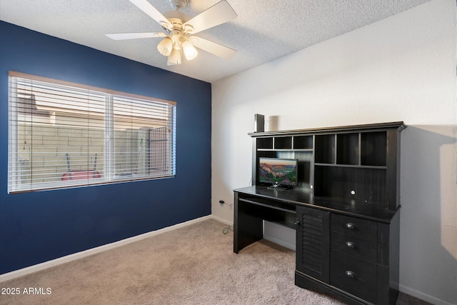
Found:
[[[233,251],[262,238],[263,219],[293,227],[297,286],[349,304],[395,304],[405,128],[392,122],[249,134],[253,185],[234,190]],[[262,184],[261,157],[298,159],[297,186]]]

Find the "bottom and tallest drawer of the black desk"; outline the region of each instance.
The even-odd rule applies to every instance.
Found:
[[[376,264],[331,251],[330,284],[376,304]]]

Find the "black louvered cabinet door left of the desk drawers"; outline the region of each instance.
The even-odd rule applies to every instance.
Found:
[[[328,283],[330,213],[304,206],[296,212],[296,269]]]

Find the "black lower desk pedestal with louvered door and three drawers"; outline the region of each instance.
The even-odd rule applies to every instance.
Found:
[[[303,206],[296,214],[298,286],[349,304],[395,304],[398,215],[386,225]]]

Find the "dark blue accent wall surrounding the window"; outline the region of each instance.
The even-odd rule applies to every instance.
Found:
[[[0,274],[211,214],[211,84],[4,21],[0,44]],[[176,177],[8,194],[8,71],[176,101]]]

